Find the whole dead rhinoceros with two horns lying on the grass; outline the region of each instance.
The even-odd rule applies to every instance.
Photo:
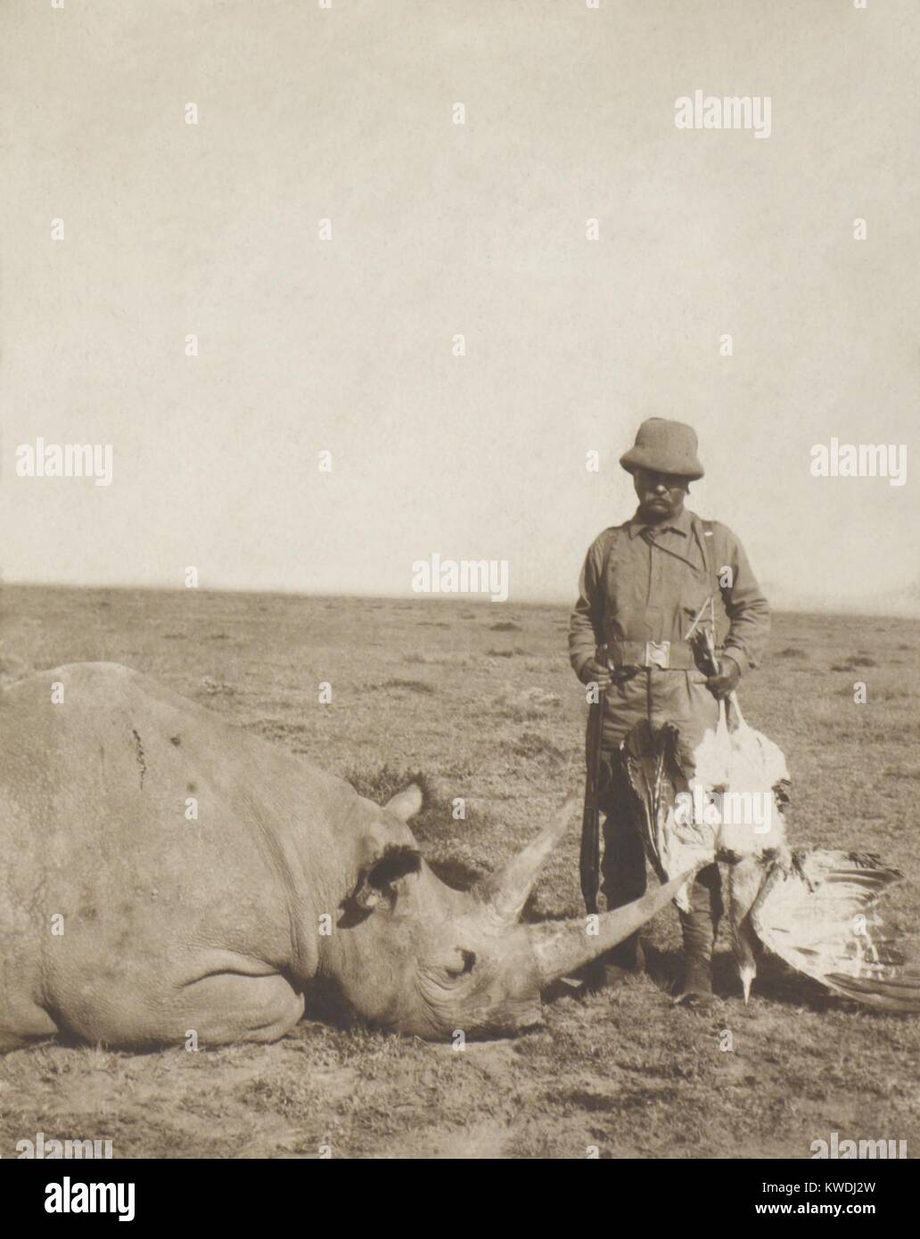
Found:
[[[0,693],[0,1049],[274,1041],[315,979],[422,1037],[513,1031],[539,991],[686,878],[600,917],[520,926],[569,814],[469,892],[405,820],[153,680],[76,664]],[[195,814],[197,813],[197,819]],[[324,932],[324,929],[331,932]]]

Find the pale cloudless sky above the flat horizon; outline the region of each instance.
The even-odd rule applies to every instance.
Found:
[[[915,582],[919,61],[915,0],[6,0],[4,580],[392,595],[436,551],[572,600],[658,414],[782,596]],[[694,89],[770,138],[678,130]],[[831,436],[906,484],[811,477]],[[17,477],[37,437],[113,484]]]

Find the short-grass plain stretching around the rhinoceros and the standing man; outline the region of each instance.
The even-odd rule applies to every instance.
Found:
[[[420,781],[415,836],[458,886],[580,790],[585,705],[560,607],[516,607],[521,622],[496,624],[492,606],[469,600],[6,587],[2,601],[0,676],[122,662],[378,802]],[[526,663],[493,649],[493,631],[522,628]],[[887,922],[910,930],[920,958],[918,626],[779,616],[771,648],[740,695],[745,717],[786,752],[791,839],[878,851],[901,869]],[[407,679],[409,665],[427,678]],[[853,701],[854,679],[865,704]],[[573,826],[528,916],[580,912]],[[614,992],[563,994],[542,1030],[461,1052],[314,1014],[274,1046],[7,1054],[0,1154],[37,1131],[112,1137],[117,1157],[317,1157],[329,1146],[335,1157],[583,1158],[596,1146],[601,1157],[805,1158],[832,1131],[920,1149],[920,1021],[838,1001],[776,960],[745,1009],[724,937],[719,1002],[701,1017],[671,1001],[676,916],[646,937],[647,974]]]

